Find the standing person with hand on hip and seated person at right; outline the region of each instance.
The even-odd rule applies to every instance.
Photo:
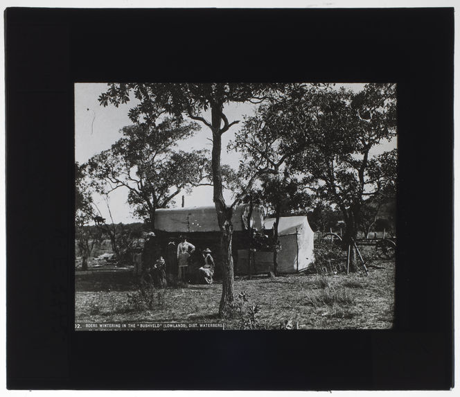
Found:
[[[186,240],[185,236],[180,236],[179,245],[177,245],[177,281],[179,283],[187,283],[188,276],[192,272],[189,271],[189,267],[198,267],[197,274],[192,276],[198,277],[199,283],[212,284],[214,276],[214,260],[211,256],[211,249],[206,248],[201,252],[201,256],[198,257],[198,263],[191,263],[191,255],[195,252],[195,245],[191,244]]]

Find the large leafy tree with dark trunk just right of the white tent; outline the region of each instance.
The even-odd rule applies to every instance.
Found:
[[[335,204],[346,222],[351,270],[357,270],[353,240],[366,198],[396,189],[396,149],[373,149],[396,136],[396,87],[369,84],[360,92],[326,89],[283,103],[286,138],[303,147],[290,166],[318,200]],[[289,123],[292,123],[291,125]]]

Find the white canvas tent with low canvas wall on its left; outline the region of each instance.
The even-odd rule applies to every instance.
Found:
[[[265,220],[265,229],[272,229],[274,218]],[[278,272],[296,273],[306,270],[314,261],[314,233],[306,216],[282,217],[278,224]],[[253,256],[254,255],[254,256]],[[251,273],[265,273],[273,270],[273,252],[251,252]],[[248,274],[249,250],[238,250],[238,273]]]

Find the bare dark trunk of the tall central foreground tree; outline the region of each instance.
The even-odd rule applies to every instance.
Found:
[[[220,299],[219,315],[227,315],[233,305],[233,257],[231,256],[231,240],[233,238],[233,224],[231,216],[233,211],[227,208],[222,194],[222,168],[220,154],[222,152],[222,135],[220,125],[222,122],[222,105],[214,104],[211,107],[211,123],[213,131],[213,150],[211,166],[213,169],[213,200],[221,237],[220,249],[222,254],[222,297]]]

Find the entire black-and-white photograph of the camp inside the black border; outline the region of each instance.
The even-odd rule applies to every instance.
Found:
[[[396,84],[74,87],[76,330],[393,326]]]

